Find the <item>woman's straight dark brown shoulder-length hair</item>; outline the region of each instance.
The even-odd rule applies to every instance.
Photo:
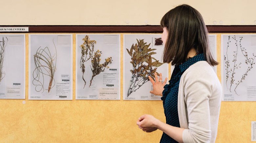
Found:
[[[160,24],[168,30],[163,62],[181,65],[187,60],[190,49],[194,48],[197,54],[204,54],[211,66],[218,65],[209,49],[203,17],[195,8],[189,5],[173,8],[163,16]]]

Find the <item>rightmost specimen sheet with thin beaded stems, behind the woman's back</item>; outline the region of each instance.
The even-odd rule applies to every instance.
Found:
[[[256,101],[256,34],[222,35],[224,101]]]

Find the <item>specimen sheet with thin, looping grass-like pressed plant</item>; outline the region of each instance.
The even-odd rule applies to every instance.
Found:
[[[29,99],[72,100],[73,37],[29,35]]]

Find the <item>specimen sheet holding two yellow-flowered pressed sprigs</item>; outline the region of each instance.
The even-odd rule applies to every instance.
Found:
[[[76,99],[120,100],[120,34],[76,35]]]

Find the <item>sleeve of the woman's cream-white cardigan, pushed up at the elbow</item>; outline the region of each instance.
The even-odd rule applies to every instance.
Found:
[[[214,84],[211,75],[195,71],[187,73],[184,78],[188,129],[183,131],[182,140],[184,143],[208,143],[211,138],[209,98]]]

